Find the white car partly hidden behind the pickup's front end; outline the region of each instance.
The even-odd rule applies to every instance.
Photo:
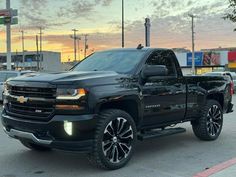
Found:
[[[0,71],[0,101],[3,101],[4,82],[7,79],[32,73],[33,71]]]

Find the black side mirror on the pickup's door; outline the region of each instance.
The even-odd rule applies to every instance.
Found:
[[[164,65],[146,65],[142,71],[142,77],[167,76],[168,69]]]

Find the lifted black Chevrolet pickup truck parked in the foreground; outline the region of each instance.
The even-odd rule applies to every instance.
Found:
[[[33,150],[88,154],[105,169],[123,167],[137,140],[185,132],[218,138],[232,112],[226,77],[184,77],[173,51],[142,48],[96,52],[70,72],[33,73],[5,84],[2,124]]]

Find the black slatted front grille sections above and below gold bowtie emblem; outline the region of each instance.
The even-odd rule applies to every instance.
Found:
[[[8,115],[35,121],[48,121],[52,117],[55,106],[47,100],[56,98],[55,88],[30,88],[30,87],[9,87],[9,94],[11,96],[23,96],[25,98],[41,99],[45,101],[27,101],[20,103],[17,100],[9,100],[6,106]]]

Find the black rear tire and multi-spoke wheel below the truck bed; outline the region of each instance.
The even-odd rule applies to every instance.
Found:
[[[200,140],[216,140],[223,127],[222,107],[216,100],[207,100],[202,116],[192,122],[193,132]]]

